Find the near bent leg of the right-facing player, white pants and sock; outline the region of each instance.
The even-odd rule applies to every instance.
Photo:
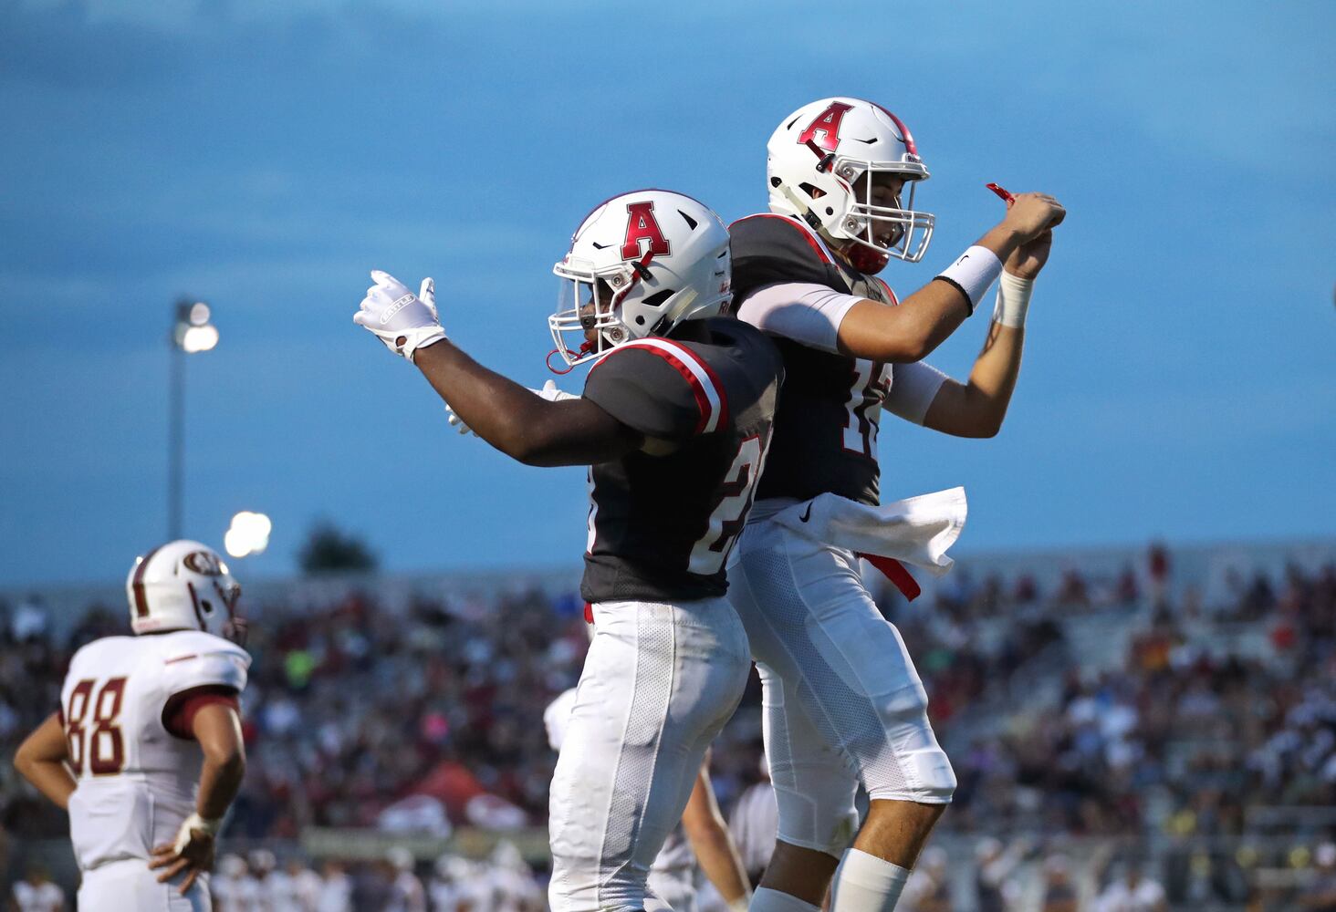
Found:
[[[836,875],[834,908],[894,908],[907,868],[955,788],[899,633],[876,610],[852,554],[816,546],[772,523],[748,527],[729,582],[758,658],[767,650],[764,660],[784,681],[790,701],[796,698],[822,741],[856,772],[874,800],[864,831]],[[767,718],[772,716],[767,712]],[[796,716],[786,713],[790,725]],[[811,800],[819,808],[831,799],[812,794]],[[782,804],[780,832],[784,817]],[[779,864],[771,865],[775,883],[787,883],[779,880],[779,865],[811,860],[782,849]],[[802,899],[815,904],[811,880],[800,884]]]

